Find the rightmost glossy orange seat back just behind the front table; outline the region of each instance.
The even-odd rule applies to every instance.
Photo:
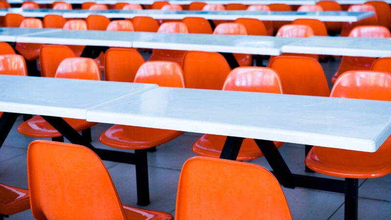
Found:
[[[331,97],[391,101],[391,73],[365,70],[344,72]]]

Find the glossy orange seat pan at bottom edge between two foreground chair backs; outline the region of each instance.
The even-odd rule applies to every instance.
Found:
[[[173,220],[173,216],[169,213],[138,209],[126,205],[122,205],[127,219],[131,220]]]

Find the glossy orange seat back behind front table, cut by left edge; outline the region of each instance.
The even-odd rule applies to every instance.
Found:
[[[27,76],[24,58],[17,54],[0,55],[0,75]]]

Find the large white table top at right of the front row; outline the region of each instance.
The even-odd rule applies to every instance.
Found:
[[[160,87],[87,121],[375,152],[391,134],[391,102]]]

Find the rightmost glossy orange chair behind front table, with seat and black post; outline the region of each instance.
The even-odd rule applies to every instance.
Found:
[[[348,71],[334,84],[331,97],[391,101],[391,74],[375,71]],[[345,219],[357,210],[358,179],[391,174],[391,136],[374,153],[313,147],[305,165],[318,173],[346,178]],[[347,208],[349,207],[349,208]],[[349,213],[350,211],[350,213]]]

